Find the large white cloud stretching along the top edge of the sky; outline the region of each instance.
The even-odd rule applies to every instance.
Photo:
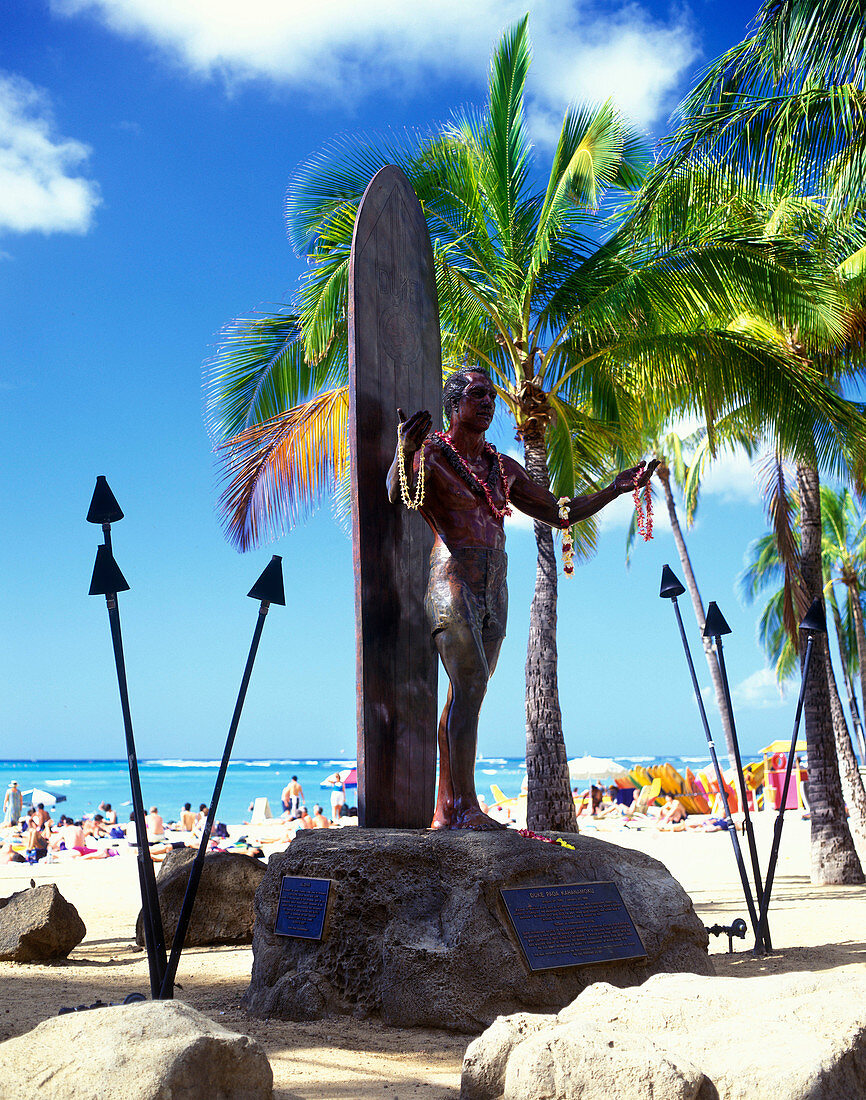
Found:
[[[418,87],[431,73],[481,79],[502,30],[526,11],[524,0],[52,0],[52,7],[144,37],[202,76],[266,78],[347,99]],[[648,125],[667,112],[697,56],[684,16],[665,22],[628,0],[617,7],[539,0],[530,34],[541,138],[575,96],[613,95]]]

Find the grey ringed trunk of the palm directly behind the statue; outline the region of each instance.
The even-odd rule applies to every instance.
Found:
[[[524,433],[526,470],[550,487],[544,429]],[[533,832],[577,833],[557,681],[557,560],[553,532],[535,524],[538,560],[526,647],[526,825]]]

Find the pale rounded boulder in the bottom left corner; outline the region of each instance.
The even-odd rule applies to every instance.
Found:
[[[274,1075],[248,1035],[180,1001],[69,1012],[0,1043],[8,1100],[270,1100]]]

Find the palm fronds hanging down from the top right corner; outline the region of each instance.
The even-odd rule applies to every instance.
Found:
[[[800,173],[832,175],[836,209],[862,195],[866,153],[866,20],[862,0],[764,0],[754,29],[703,73],[646,190],[708,154],[757,188]]]

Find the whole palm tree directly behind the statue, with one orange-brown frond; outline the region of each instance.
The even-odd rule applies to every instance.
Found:
[[[634,446],[649,392],[709,426],[748,399],[749,416],[776,425],[792,447],[813,440],[818,420],[827,453],[837,449],[852,422],[845,403],[787,348],[732,324],[743,311],[759,316],[782,305],[803,324],[837,334],[840,310],[824,284],[791,252],[759,252],[735,240],[669,248],[636,245],[633,234],[618,232],[599,244],[603,204],[645,173],[643,146],[610,103],[571,108],[546,184],[536,186],[524,112],[528,66],[523,20],[494,53],[483,112],[467,112],[432,135],[338,146],[302,172],[287,202],[291,235],[309,264],[296,314],[239,322],[209,381],[210,426],[229,482],[222,507],[241,547],[285,529],[315,501],[307,468],[319,486],[344,472],[344,438],[325,420],[344,408],[355,211],[387,163],[413,183],[430,228],[446,369],[467,361],[487,367],[514,417],[527,470],[556,495],[596,487],[611,452],[618,459]],[[283,399],[292,371],[297,377]],[[259,406],[274,415],[262,421]],[[584,554],[594,530],[583,527]],[[556,679],[551,530],[537,524],[536,541],[528,823],[566,829],[574,818]]]

